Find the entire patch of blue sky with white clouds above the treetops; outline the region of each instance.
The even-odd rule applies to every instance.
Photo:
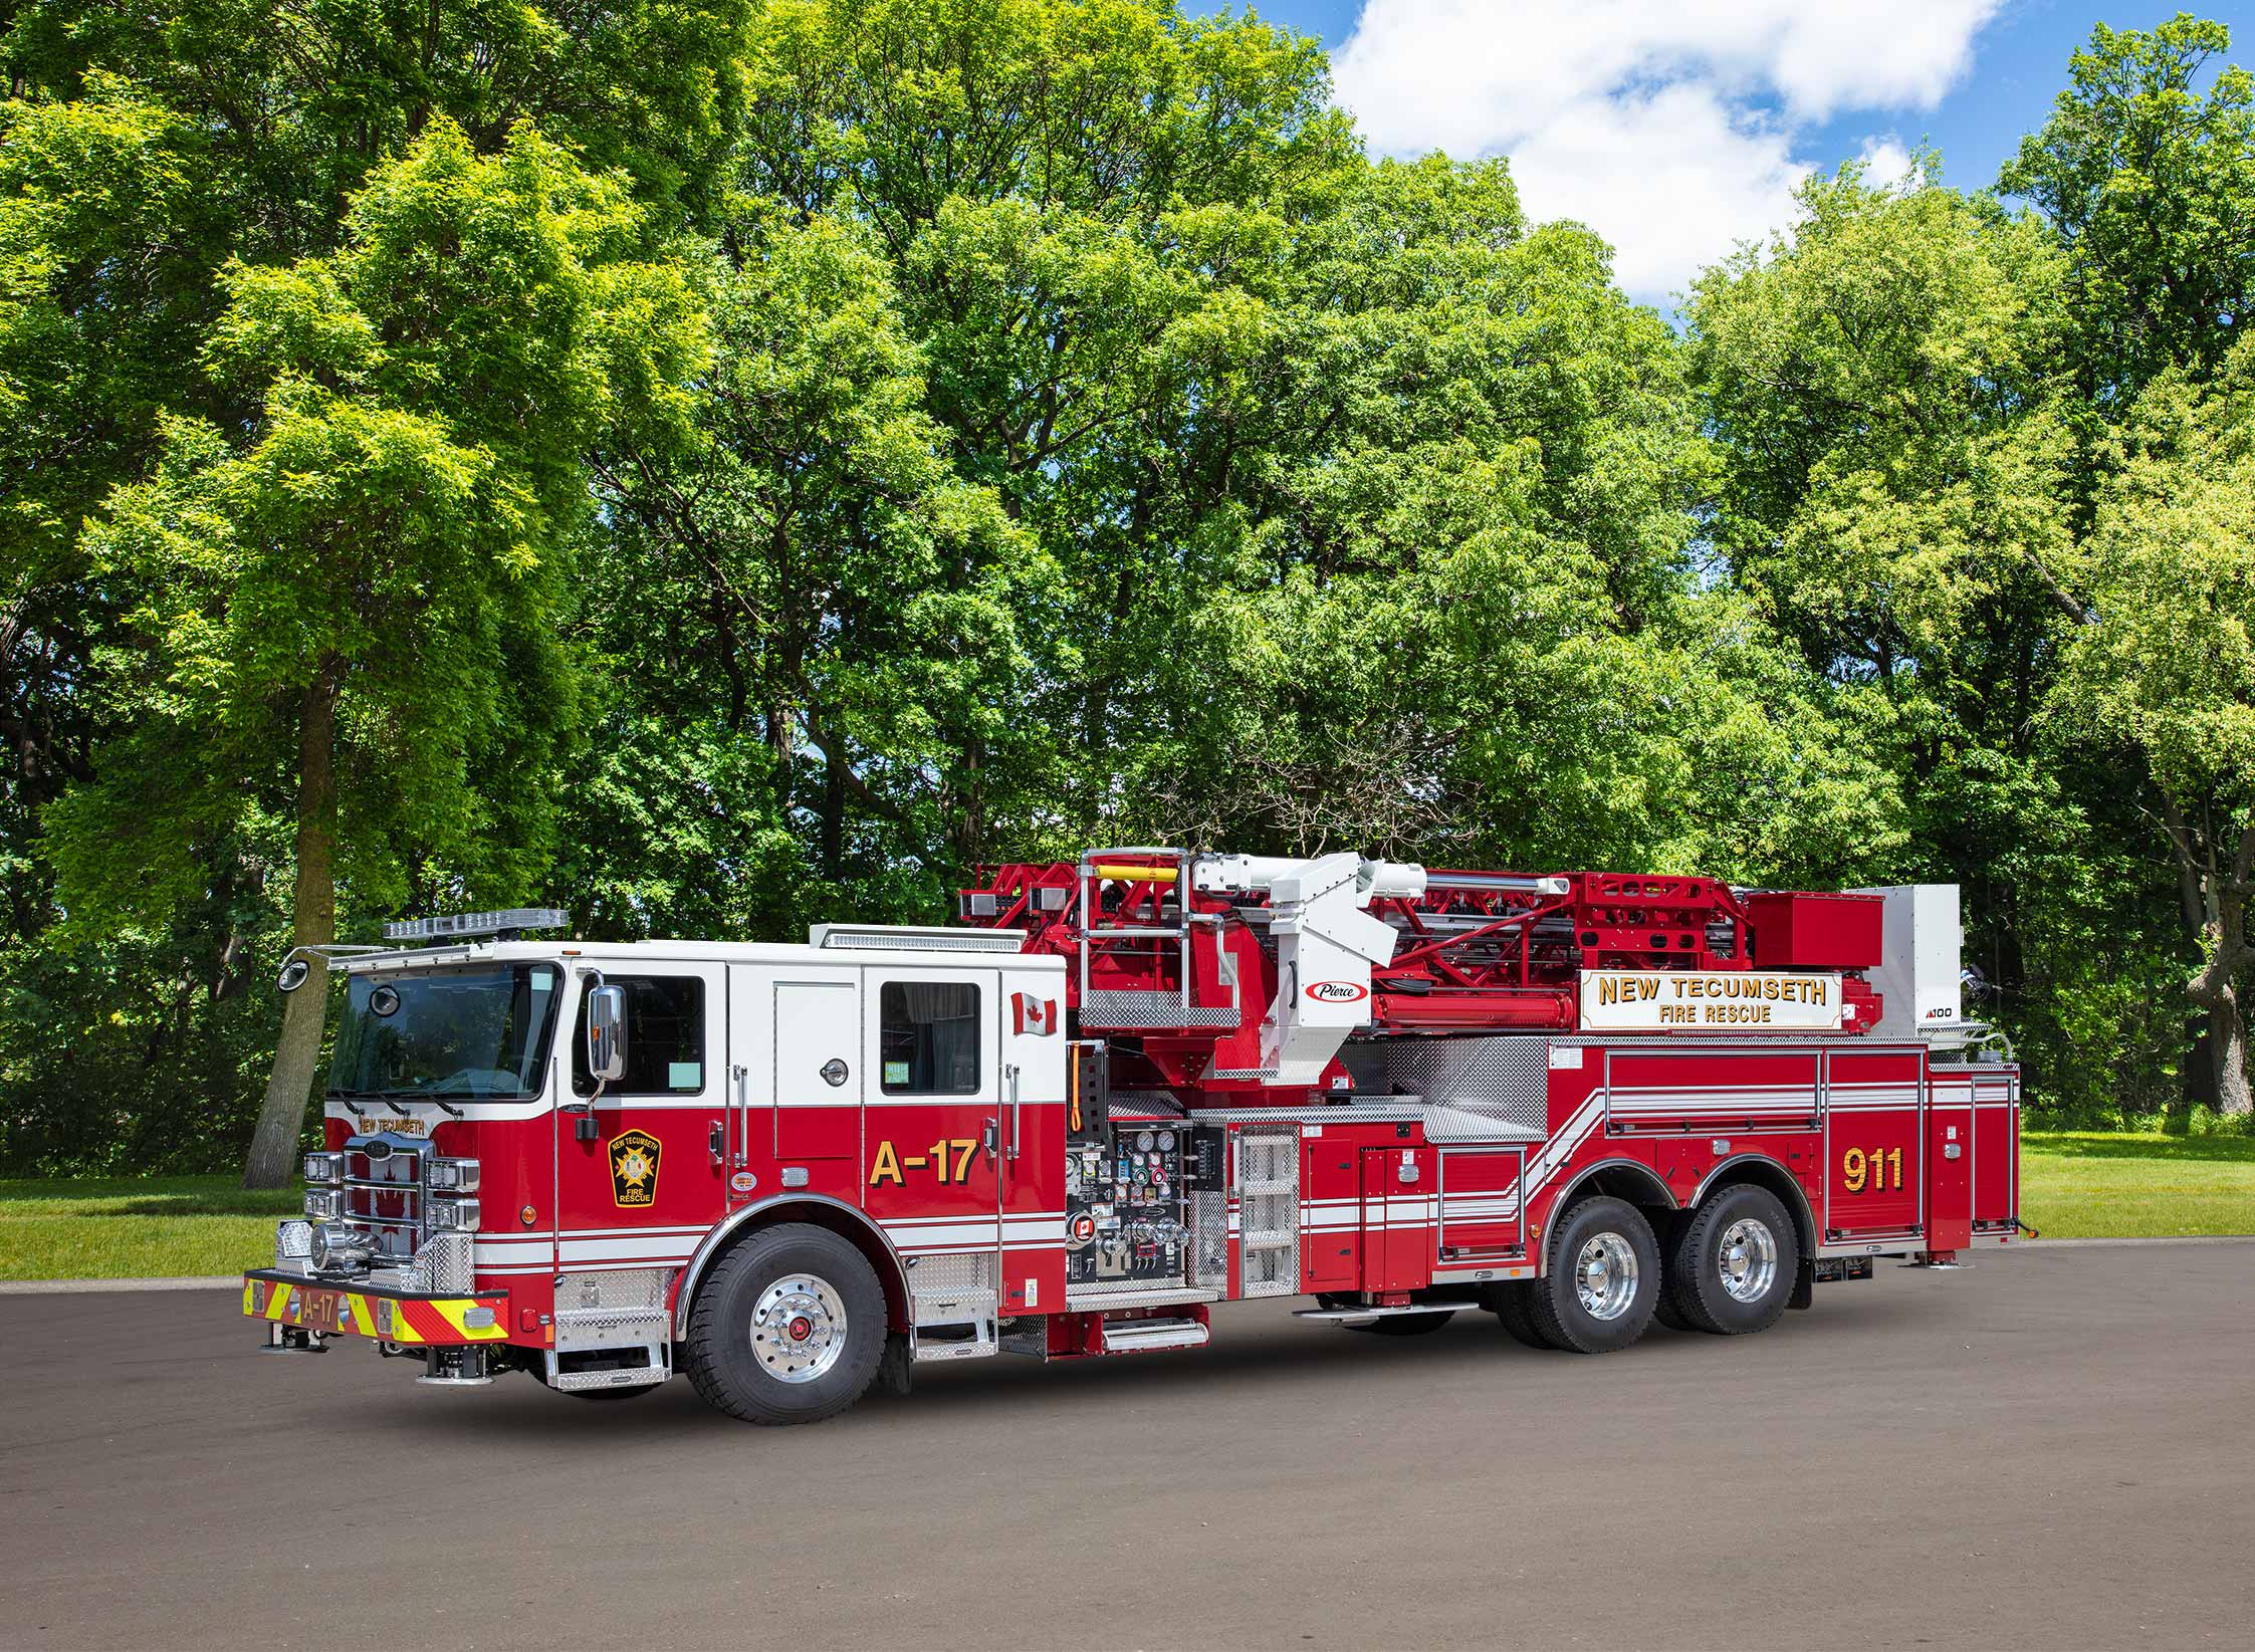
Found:
[[[1184,11],[1222,11],[1184,0]],[[1732,243],[1779,228],[1793,183],[1921,140],[1960,187],[1996,180],[2095,23],[2181,5],[2093,0],[1243,0],[1319,36],[1373,151],[1504,153],[1538,219],[1617,248],[1669,307]],[[2255,5],[2192,5],[2255,63]]]

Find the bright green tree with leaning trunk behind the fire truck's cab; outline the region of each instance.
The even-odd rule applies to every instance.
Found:
[[[334,257],[230,268],[207,356],[257,419],[241,442],[169,421],[95,536],[147,699],[50,811],[83,922],[192,899],[198,838],[264,787],[295,818],[295,947],[336,938],[341,877],[386,906],[410,874],[474,892],[539,863],[521,778],[571,714],[577,455],[652,379],[636,352],[695,343],[667,327],[692,316],[679,277],[629,257],[636,216],[530,128],[480,158],[433,119]],[[253,1185],[289,1174],[320,1014],[318,992],[284,1012]]]

